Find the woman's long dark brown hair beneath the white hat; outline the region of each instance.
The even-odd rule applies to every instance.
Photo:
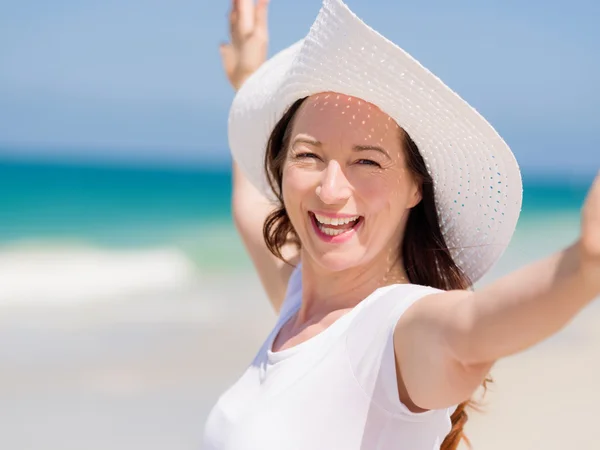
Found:
[[[267,248],[283,261],[285,258],[281,249],[285,244],[293,243],[300,248],[300,242],[283,204],[281,183],[283,165],[287,156],[285,150],[289,146],[293,119],[304,100],[306,97],[297,100],[275,125],[267,144],[264,161],[265,172],[278,204],[265,221],[263,235]],[[408,279],[414,284],[443,290],[471,289],[471,280],[452,259],[440,229],[433,179],[427,171],[425,161],[408,133],[402,129],[401,132],[409,170],[421,184],[422,192],[422,200],[409,213],[401,248],[398,249]],[[484,390],[489,381],[491,381],[489,378],[484,381]],[[468,419],[466,407],[478,409],[477,403],[472,400],[458,405],[451,417],[452,429],[444,439],[440,450],[455,450],[462,439],[469,443],[463,433],[463,427]]]

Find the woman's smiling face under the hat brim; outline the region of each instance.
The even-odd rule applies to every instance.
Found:
[[[303,260],[341,271],[397,256],[409,210],[420,201],[401,133],[358,98],[306,99],[293,121],[282,179]]]

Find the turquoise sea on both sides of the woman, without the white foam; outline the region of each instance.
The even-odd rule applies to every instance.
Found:
[[[591,178],[525,174],[524,182],[520,226],[548,213],[576,214]],[[231,263],[239,241],[230,195],[226,168],[0,161],[0,244],[174,245],[201,265]]]

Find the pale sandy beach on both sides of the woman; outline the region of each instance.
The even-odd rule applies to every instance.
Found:
[[[0,308],[0,448],[198,449],[274,316],[253,276],[171,298]],[[217,306],[215,306],[217,305]],[[600,308],[494,369],[475,449],[596,449]]]

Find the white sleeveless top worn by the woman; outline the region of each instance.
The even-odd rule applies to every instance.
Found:
[[[438,450],[456,407],[413,413],[402,404],[393,348],[402,313],[438,291],[377,289],[318,335],[273,353],[275,336],[300,307],[301,278],[297,268],[273,331],[211,411],[202,448]]]

